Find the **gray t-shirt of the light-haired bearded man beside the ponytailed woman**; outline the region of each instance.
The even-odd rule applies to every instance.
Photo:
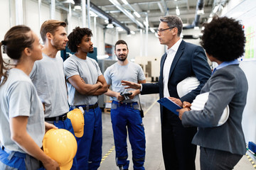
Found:
[[[68,112],[68,92],[61,57],[51,58],[43,54],[43,59],[35,62],[30,77],[38,96],[45,103],[46,118]]]

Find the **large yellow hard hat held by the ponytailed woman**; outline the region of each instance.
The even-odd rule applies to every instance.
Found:
[[[69,170],[78,150],[74,135],[65,129],[50,129],[43,137],[43,152],[58,162],[61,170]]]

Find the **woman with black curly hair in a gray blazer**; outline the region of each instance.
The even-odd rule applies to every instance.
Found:
[[[233,18],[216,16],[206,24],[201,45],[218,67],[201,90],[201,94],[208,93],[203,110],[190,110],[190,103],[183,103],[179,118],[185,127],[198,127],[192,143],[200,146],[201,170],[233,169],[246,152],[241,122],[248,84],[238,62],[245,52],[242,25]],[[228,119],[219,125],[227,106]]]

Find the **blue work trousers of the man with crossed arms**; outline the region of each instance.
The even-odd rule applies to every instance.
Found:
[[[70,107],[70,110],[73,108]],[[85,110],[85,126],[76,154],[79,170],[96,170],[102,159],[102,111],[100,107]]]

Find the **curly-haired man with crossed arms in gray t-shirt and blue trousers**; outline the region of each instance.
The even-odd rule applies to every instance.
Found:
[[[84,135],[76,137],[78,169],[95,170],[102,158],[102,112],[97,102],[107,83],[97,62],[87,57],[93,52],[91,37],[89,28],[79,27],[68,35],[68,48],[75,54],[65,60],[64,69],[70,111],[79,107],[85,111]]]

